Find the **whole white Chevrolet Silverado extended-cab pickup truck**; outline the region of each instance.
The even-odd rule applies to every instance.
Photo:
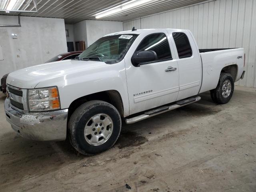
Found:
[[[244,76],[244,49],[199,50],[189,30],[108,34],[76,60],[8,75],[6,119],[24,138],[65,140],[86,155],[114,145],[131,124],[200,100],[227,103]]]

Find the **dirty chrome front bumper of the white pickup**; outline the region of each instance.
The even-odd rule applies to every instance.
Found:
[[[24,138],[38,141],[66,139],[68,109],[23,114],[11,107],[8,98],[4,101],[4,109],[12,129]]]

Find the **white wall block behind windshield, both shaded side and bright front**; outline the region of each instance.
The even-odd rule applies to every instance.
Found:
[[[74,40],[84,41],[87,48],[102,36],[123,31],[123,22],[84,20],[73,25]]]

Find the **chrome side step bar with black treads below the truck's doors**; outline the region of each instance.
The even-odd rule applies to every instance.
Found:
[[[176,104],[173,104],[173,105],[170,105],[170,106],[160,107],[160,108],[145,112],[142,115],[139,115],[139,116],[136,116],[136,117],[133,117],[133,118],[130,118],[130,119],[126,119],[125,122],[126,122],[126,124],[132,124],[132,123],[135,123],[135,122],[138,122],[138,121],[156,116],[158,114],[161,114],[161,113],[164,113],[164,112],[174,110],[176,108],[188,105],[190,103],[197,102],[199,100],[201,100],[201,97],[199,97],[199,96],[194,97],[194,98],[188,98],[188,99],[185,99],[185,100],[181,100],[181,101],[176,102]]]

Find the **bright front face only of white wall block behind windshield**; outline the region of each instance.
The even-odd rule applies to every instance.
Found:
[[[123,22],[86,20],[87,45],[90,46],[104,35],[123,31]]]

